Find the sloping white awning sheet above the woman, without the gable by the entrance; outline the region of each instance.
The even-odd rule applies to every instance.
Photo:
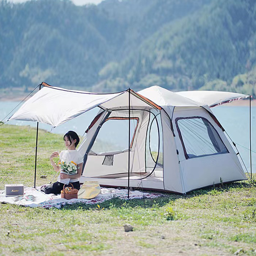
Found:
[[[43,83],[9,120],[36,121],[58,126],[124,92],[98,94],[71,91]]]

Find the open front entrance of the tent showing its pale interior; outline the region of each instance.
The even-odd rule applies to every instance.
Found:
[[[92,138],[84,165],[83,176],[124,178],[128,177],[128,154],[130,150],[130,178],[143,179],[154,171],[156,177],[163,177],[161,118],[159,110],[132,109],[114,110],[100,124],[95,122],[90,133],[98,130]],[[160,122],[160,124],[158,124]],[[98,125],[100,129],[93,129]],[[159,129],[160,127],[160,129]],[[161,148],[161,153],[159,153]],[[153,174],[152,174],[153,175]]]

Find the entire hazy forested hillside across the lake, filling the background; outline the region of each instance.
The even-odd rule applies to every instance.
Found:
[[[0,87],[256,92],[256,1],[0,0]]]

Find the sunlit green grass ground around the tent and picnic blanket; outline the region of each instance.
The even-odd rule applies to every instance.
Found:
[[[40,130],[38,141],[46,135]],[[33,186],[35,150],[26,156],[36,130],[3,125],[0,136],[0,189],[8,183]],[[58,134],[39,144],[37,185],[54,178],[49,156],[62,149]],[[50,210],[0,204],[0,255],[256,255],[255,189],[255,183],[241,181],[187,196],[164,193],[146,199],[145,207],[140,199],[113,198],[101,203],[101,210],[84,204]],[[132,232],[124,232],[126,223]]]

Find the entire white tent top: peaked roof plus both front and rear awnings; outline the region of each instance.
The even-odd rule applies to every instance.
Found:
[[[128,90],[117,93],[92,93],[53,87],[46,83],[42,83],[42,86],[43,88],[28,99],[9,120],[35,121],[56,127],[95,107],[124,109],[129,105]],[[138,93],[132,90],[130,92],[131,106],[140,109],[201,106],[208,108],[249,97],[233,92],[175,93],[159,86],[152,86]]]

